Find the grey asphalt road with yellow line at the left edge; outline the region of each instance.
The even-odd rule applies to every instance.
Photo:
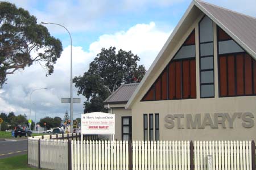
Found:
[[[27,138],[5,141],[0,139],[0,159],[27,154]]]

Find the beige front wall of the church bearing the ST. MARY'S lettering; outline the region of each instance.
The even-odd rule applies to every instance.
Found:
[[[196,79],[197,79],[197,99],[187,99],[187,100],[166,100],[166,101],[144,101],[141,102],[142,97],[152,83],[158,78],[159,74],[162,72],[166,65],[159,67],[159,70],[154,73],[151,78],[150,83],[144,86],[135,101],[131,106],[132,116],[133,116],[133,140],[143,140],[143,113],[159,113],[159,124],[160,124],[160,140],[256,140],[256,128],[255,125],[252,128],[244,128],[242,123],[241,115],[245,112],[250,112],[254,115],[251,118],[255,122],[256,117],[256,96],[242,96],[242,97],[218,97],[218,68],[217,68],[217,41],[216,41],[216,25],[214,24],[214,88],[215,97],[210,99],[200,99],[200,83],[199,83],[199,37],[198,37],[198,23],[203,15],[201,15],[196,22],[188,27],[187,33],[184,34],[180,42],[177,43],[176,47],[170,53],[170,57],[166,59],[164,63],[168,63],[172,56],[179,49],[180,45],[187,38],[192,29],[196,29]],[[241,115],[240,115],[241,112]],[[206,113],[210,113],[212,119],[214,119],[214,113],[229,113],[233,116],[234,113],[237,114],[234,119],[233,128],[229,128],[228,121],[225,121],[226,128],[222,128],[222,125],[218,125],[218,129],[210,128],[210,126],[205,126],[204,129],[187,129],[186,118],[181,118],[181,125],[184,127],[182,129],[177,128],[177,118],[175,118],[175,127],[172,129],[167,129],[164,121],[164,117],[167,114],[201,114],[201,122]],[[155,131],[154,131],[155,133]]]

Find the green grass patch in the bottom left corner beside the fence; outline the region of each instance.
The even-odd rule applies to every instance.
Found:
[[[13,156],[11,158],[0,159],[0,169],[38,169],[30,168],[27,165],[27,155]]]

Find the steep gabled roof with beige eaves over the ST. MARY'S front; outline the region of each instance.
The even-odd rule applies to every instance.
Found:
[[[131,105],[133,105],[134,101],[137,99],[142,87],[145,86],[148,79],[154,75],[156,69],[163,64],[164,59],[167,58],[170,51],[174,49],[175,44],[179,41],[180,35],[184,33],[184,29],[187,29],[189,24],[191,25],[195,22],[195,19],[201,12],[212,19],[213,22],[228,33],[237,44],[242,46],[251,57],[256,59],[256,18],[203,1],[193,0],[148,69],[146,75],[144,75],[141,83],[130,97],[126,108],[131,108]]]

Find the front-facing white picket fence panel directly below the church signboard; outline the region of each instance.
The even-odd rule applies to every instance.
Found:
[[[71,141],[71,155],[75,170],[129,169],[127,141]]]

